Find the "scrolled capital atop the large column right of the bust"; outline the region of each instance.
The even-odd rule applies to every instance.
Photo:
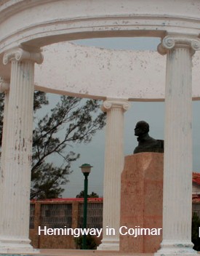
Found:
[[[200,39],[197,36],[188,35],[167,35],[158,46],[158,52],[165,55],[170,49],[175,47],[191,48],[192,53],[200,49]]]

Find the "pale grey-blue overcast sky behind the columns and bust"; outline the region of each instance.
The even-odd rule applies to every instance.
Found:
[[[118,38],[118,39],[87,39],[73,41],[76,44],[104,47],[109,49],[155,50],[160,39],[156,38]],[[150,78],[151,79],[151,78]],[[56,102],[57,95],[49,95],[49,100]],[[200,102],[193,102],[193,171],[200,172]],[[164,139],[164,103],[131,103],[131,108],[124,114],[124,155],[132,154],[137,146],[134,128],[137,121],[145,120],[150,124],[151,137]],[[94,191],[103,196],[103,169],[105,150],[105,129],[98,132],[92,142],[87,145],[74,145],[73,151],[81,153],[80,159],[72,164],[73,173],[68,176],[70,182],[65,185],[63,197],[76,197],[84,190],[84,175],[79,166],[91,164],[89,174],[89,193]]]

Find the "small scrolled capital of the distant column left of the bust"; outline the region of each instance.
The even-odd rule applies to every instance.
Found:
[[[122,108],[123,111],[127,111],[130,108],[130,103],[127,99],[108,98],[103,102],[102,111],[107,112],[111,108]]]

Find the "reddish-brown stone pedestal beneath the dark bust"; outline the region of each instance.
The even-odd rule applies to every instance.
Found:
[[[125,157],[121,174],[121,226],[162,228],[163,153]],[[160,236],[120,235],[121,252],[156,252]]]

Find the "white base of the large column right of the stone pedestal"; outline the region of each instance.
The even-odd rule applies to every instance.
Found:
[[[161,249],[154,253],[154,256],[195,256],[197,252],[193,249],[193,244],[180,241],[180,243],[161,243]]]

